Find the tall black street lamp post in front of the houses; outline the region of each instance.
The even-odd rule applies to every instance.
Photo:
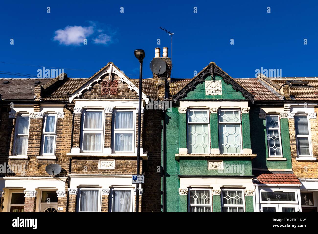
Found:
[[[142,94],[142,60],[145,52],[142,49],[135,50],[135,57],[139,60],[139,105],[138,105],[138,143],[137,143],[137,175],[140,173],[140,135],[141,135],[141,94]],[[136,184],[136,212],[139,212],[139,184]]]

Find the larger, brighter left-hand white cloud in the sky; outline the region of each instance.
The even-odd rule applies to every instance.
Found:
[[[94,33],[93,26],[66,26],[65,29],[55,31],[54,40],[64,45],[80,45],[84,39]],[[106,34],[105,34],[106,35]]]

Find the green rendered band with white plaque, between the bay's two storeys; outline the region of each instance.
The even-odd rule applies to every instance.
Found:
[[[223,170],[208,170],[208,160],[180,159],[180,175],[252,175],[251,159],[239,158],[211,158],[224,160]]]

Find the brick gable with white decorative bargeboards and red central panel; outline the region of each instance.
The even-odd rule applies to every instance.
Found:
[[[136,99],[138,100],[139,88],[113,63],[108,63],[99,72],[95,73],[69,98],[70,103],[74,98],[79,99]],[[142,92],[142,99],[148,103],[149,98]]]

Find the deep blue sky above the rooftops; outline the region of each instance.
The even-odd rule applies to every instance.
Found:
[[[2,1],[0,73],[37,75],[40,67],[23,65],[29,64],[88,78],[112,61],[138,78],[134,50],[141,48],[149,78],[155,47],[169,47],[170,56],[164,27],[175,33],[173,78],[192,78],[211,61],[233,78],[255,77],[261,67],[318,76],[317,10],[317,1]]]

